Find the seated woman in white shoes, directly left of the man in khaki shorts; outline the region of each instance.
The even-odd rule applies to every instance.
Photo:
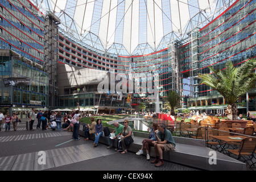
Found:
[[[146,149],[147,153],[147,160],[150,160],[150,155],[148,154],[148,146],[154,147],[153,141],[156,141],[155,131],[158,129],[158,123],[152,122],[152,130],[148,129],[147,131],[150,132],[148,139],[144,139],[142,141],[142,147],[141,150],[139,150],[136,154],[142,155],[143,154],[143,148]],[[157,131],[156,131],[157,132]]]

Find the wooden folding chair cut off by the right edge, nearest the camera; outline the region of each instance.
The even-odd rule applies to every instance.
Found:
[[[230,154],[236,155],[237,160],[242,158],[244,160],[243,162],[246,162],[251,168],[251,170],[253,170],[251,166],[255,164],[255,162],[253,162],[253,158],[255,158],[254,157],[255,148],[256,148],[256,138],[247,137],[242,140],[239,149],[229,149],[227,151],[229,152],[229,156]],[[251,161],[252,164],[248,163],[249,160]]]

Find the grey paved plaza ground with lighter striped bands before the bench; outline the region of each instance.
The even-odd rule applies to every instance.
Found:
[[[17,131],[11,126],[10,131],[0,132],[0,171],[199,171],[167,161],[156,168],[144,155],[121,154],[106,147],[93,147],[93,140],[83,137],[73,140],[68,131],[29,131],[23,120]],[[45,152],[46,164],[39,164],[39,151]]]

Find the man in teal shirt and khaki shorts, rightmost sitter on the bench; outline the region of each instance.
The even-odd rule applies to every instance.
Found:
[[[156,130],[157,131],[157,130]],[[164,123],[158,124],[158,133],[156,134],[157,141],[153,141],[156,158],[151,161],[155,167],[163,166],[163,151],[175,149],[175,141],[172,138],[171,131],[166,129]]]

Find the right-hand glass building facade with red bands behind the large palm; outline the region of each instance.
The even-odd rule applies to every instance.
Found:
[[[193,98],[188,101],[188,108],[203,106],[201,108],[206,109],[205,106],[226,104],[225,98],[216,90],[205,84],[199,84],[196,75],[198,73],[210,73],[209,66],[214,69],[224,69],[228,60],[239,67],[245,61],[255,58],[255,7],[256,1],[237,1],[221,16],[199,30],[198,69],[196,71],[195,68],[190,70],[192,71],[190,76],[192,76]],[[192,38],[191,42],[194,40]],[[188,65],[193,64],[192,55],[193,53],[189,56],[191,62],[187,63]],[[255,93],[253,91],[249,92],[249,98],[251,99],[248,109],[255,110]],[[241,108],[246,108],[246,96],[240,97],[237,103]],[[246,112],[246,109],[244,110]],[[220,111],[223,112],[224,109]]]

